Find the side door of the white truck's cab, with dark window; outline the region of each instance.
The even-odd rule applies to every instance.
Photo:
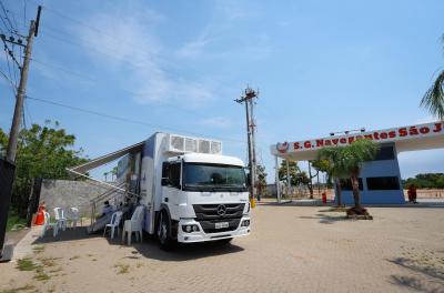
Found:
[[[162,203],[168,205],[172,220],[179,220],[180,190],[181,162],[164,162],[162,165]]]

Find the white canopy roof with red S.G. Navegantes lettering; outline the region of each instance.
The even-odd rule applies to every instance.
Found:
[[[366,131],[345,135],[332,135],[305,141],[282,142],[271,145],[271,153],[290,161],[307,161],[317,158],[325,146],[344,146],[356,139],[367,138],[377,143],[394,143],[397,152],[444,148],[444,123],[424,124]]]

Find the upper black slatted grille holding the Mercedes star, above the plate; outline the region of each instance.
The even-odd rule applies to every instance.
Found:
[[[220,215],[218,208],[225,206],[225,213]],[[242,218],[244,203],[225,203],[225,204],[193,204],[196,220],[222,220]]]

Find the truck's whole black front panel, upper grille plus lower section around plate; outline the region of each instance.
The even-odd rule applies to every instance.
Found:
[[[218,213],[220,205],[224,205],[225,213]],[[203,232],[205,233],[219,233],[226,231],[234,231],[238,229],[242,214],[244,203],[224,203],[224,204],[193,204],[195,221],[198,221]],[[228,222],[229,226],[216,229],[215,223]]]

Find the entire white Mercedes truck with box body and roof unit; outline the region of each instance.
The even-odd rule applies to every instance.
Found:
[[[244,164],[222,155],[220,141],[157,132],[119,161],[124,181],[145,208],[143,230],[162,249],[250,234]]]

